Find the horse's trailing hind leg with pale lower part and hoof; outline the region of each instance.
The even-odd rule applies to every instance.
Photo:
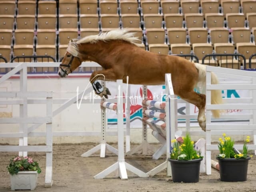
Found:
[[[205,104],[206,104],[206,96],[204,94],[196,93],[194,91],[186,92],[186,95],[180,96],[182,99],[186,100],[197,106],[198,112],[198,123],[202,130],[206,131],[206,118],[204,114]]]

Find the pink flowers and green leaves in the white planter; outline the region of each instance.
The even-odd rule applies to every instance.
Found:
[[[38,162],[30,157],[15,157],[10,160],[7,170],[11,175],[18,174],[19,171],[37,171],[41,173]]]

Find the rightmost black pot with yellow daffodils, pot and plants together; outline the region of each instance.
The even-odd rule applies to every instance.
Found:
[[[252,156],[248,156],[247,143],[250,136],[244,141],[243,151],[240,153],[234,148],[234,140],[222,134],[224,139],[219,138],[218,148],[220,154],[216,157],[220,166],[220,180],[227,182],[237,182],[247,180],[248,161]]]

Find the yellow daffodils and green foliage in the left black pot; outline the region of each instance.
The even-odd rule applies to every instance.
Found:
[[[172,140],[173,147],[170,154],[174,160],[193,160],[203,158],[201,152],[195,149],[194,141],[191,141],[190,135],[183,137],[183,143],[180,144],[176,140]]]

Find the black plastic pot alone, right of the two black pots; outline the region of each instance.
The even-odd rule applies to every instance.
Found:
[[[248,161],[250,157],[246,159],[221,159],[216,158],[220,165],[220,180],[226,182],[237,182],[247,180]]]

